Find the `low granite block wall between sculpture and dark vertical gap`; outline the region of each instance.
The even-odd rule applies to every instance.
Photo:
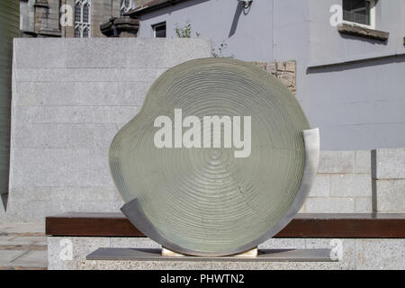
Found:
[[[321,151],[317,178],[301,212],[372,212],[371,151]]]

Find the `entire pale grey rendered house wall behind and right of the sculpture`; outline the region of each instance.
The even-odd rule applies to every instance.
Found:
[[[320,127],[321,149],[405,147],[405,1],[377,1],[376,29],[390,32],[386,43],[338,33],[329,9],[341,3],[254,0],[243,14],[237,1],[186,1],[143,15],[139,37],[152,37],[151,25],[163,21],[167,37],[175,37],[175,23],[190,20],[214,48],[228,44],[225,57],[294,59],[296,96]]]

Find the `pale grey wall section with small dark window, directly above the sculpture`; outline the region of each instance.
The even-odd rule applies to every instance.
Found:
[[[153,37],[152,25],[166,21],[167,38],[190,21],[195,32],[212,40],[212,48],[228,45],[223,56],[231,54],[246,61],[273,61],[273,0],[255,0],[247,15],[238,1],[193,0],[175,4],[141,16],[139,37]]]

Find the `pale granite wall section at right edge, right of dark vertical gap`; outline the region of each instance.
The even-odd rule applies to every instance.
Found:
[[[405,212],[405,148],[373,151],[374,211]]]

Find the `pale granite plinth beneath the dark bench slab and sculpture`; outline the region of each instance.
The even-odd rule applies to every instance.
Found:
[[[49,237],[49,269],[405,269],[403,238],[271,238],[259,249],[332,249],[338,262],[86,260],[100,247],[160,248],[149,238]]]

